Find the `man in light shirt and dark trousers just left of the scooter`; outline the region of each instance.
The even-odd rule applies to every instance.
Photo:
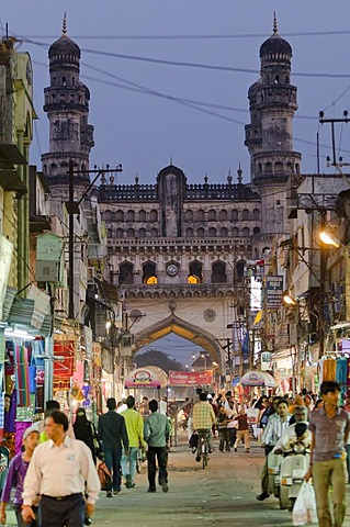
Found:
[[[280,399],[275,402],[276,412],[269,416],[268,424],[263,430],[261,438],[261,447],[264,448],[264,464],[261,470],[261,493],[257,496],[257,500],[262,502],[269,494],[269,472],[268,472],[268,456],[273,450],[276,441],[290,425],[291,415],[287,413],[289,403],[285,399]]]

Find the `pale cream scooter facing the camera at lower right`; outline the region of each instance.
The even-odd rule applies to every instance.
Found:
[[[292,447],[292,451],[284,452],[280,467],[280,508],[293,511],[308,466],[309,450],[303,441],[296,441]]]

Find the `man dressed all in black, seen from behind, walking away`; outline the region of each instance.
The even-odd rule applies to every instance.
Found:
[[[101,441],[104,462],[112,475],[112,489],[106,491],[106,497],[112,497],[121,492],[121,459],[122,445],[128,450],[128,439],[124,417],[115,412],[116,402],[114,397],[106,400],[109,411],[100,415],[98,425],[98,437]]]

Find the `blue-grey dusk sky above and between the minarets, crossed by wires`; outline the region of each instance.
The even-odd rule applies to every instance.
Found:
[[[302,171],[315,171],[319,132],[321,171],[331,173],[325,161],[330,130],[319,125],[318,112],[341,117],[349,110],[350,1],[0,0],[0,8],[2,34],[8,23],[22,41],[19,51],[33,60],[39,120],[31,161],[38,167],[48,150],[47,51],[67,11],[68,36],[81,48],[80,78],[91,92],[91,165],[122,162],[117,182],[133,182],[137,173],[142,183],[154,183],[170,159],[189,182],[205,173],[210,182],[225,182],[240,162],[248,182],[247,92],[259,78],[259,47],[272,34],[275,11],[279,33],[293,48],[298,89],[294,149],[303,155]],[[338,153],[349,161],[350,124],[337,132]]]

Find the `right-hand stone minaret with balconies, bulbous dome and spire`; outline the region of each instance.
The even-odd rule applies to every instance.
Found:
[[[261,195],[262,233],[287,229],[285,189],[287,177],[298,173],[301,154],[293,150],[296,87],[291,85],[292,47],[278,33],[260,47],[260,79],[248,91],[250,124],[246,146],[250,154],[251,182]]]

